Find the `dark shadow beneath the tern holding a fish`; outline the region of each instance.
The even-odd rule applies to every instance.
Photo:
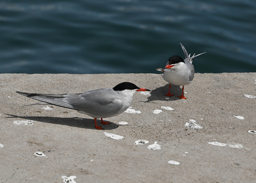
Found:
[[[150,92],[149,97],[147,97],[147,101],[146,102],[151,102],[151,101],[176,101],[176,100],[180,100],[180,98],[178,96],[181,95],[182,93],[182,88],[180,88],[180,86],[176,86],[176,85],[171,85],[171,90],[170,93],[173,94],[174,96],[165,96],[167,93],[169,92],[169,84],[156,88],[155,90],[152,90]],[[169,99],[166,99],[166,98]]]

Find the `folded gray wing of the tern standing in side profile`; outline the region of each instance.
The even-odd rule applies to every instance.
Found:
[[[111,116],[122,108],[122,101],[112,88],[92,90],[85,93],[41,94],[17,93],[52,105],[82,111],[90,115]]]

